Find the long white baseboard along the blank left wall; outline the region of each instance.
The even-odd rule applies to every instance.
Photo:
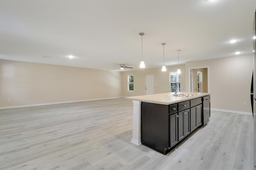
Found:
[[[67,101],[67,102],[54,102],[54,103],[43,103],[43,104],[29,104],[29,105],[22,105],[22,106],[8,106],[8,107],[0,107],[0,109],[11,109],[11,108],[30,107],[30,106],[43,106],[43,105],[50,105],[50,104],[63,104],[63,103],[74,103],[74,102],[86,102],[86,101],[93,101],[93,100],[105,100],[105,99],[115,99],[115,98],[124,98],[124,97],[88,99],[88,100],[74,100],[74,101]]]

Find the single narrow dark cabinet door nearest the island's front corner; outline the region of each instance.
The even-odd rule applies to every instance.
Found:
[[[178,143],[178,113],[169,116],[170,121],[170,147]]]

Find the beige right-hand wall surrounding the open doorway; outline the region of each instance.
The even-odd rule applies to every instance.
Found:
[[[240,55],[186,63],[188,69],[209,66],[211,107],[241,112],[251,112],[250,87],[253,55]],[[186,82],[188,90],[188,81]],[[247,106],[244,106],[244,102]]]

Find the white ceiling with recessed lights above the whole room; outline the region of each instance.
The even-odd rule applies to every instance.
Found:
[[[140,32],[146,68],[163,65],[161,43],[166,66],[177,49],[180,63],[252,54],[255,9],[256,0],[0,0],[0,59],[138,70]]]

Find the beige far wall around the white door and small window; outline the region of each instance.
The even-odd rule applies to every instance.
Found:
[[[180,68],[180,87],[186,86],[185,64],[177,66],[166,66],[166,72],[162,68],[152,68],[123,72],[123,95],[140,96],[145,95],[145,74],[154,74],[154,94],[170,92],[169,72],[175,72]],[[128,91],[128,75],[134,75],[134,91]]]

